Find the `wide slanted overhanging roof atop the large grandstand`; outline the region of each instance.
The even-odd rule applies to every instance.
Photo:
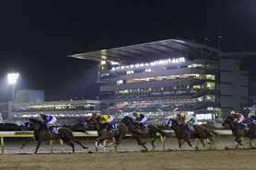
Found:
[[[189,59],[215,59],[232,58],[240,59],[241,57],[255,55],[256,52],[233,52],[226,53],[216,50],[210,46],[200,44],[191,40],[170,39],[148,42],[137,45],[130,45],[120,48],[112,48],[101,51],[91,51],[69,55],[78,59],[86,59],[96,62],[145,62],[156,61],[161,59],[186,57]]]

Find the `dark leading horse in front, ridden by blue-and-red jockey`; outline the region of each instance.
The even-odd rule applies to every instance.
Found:
[[[34,138],[27,140],[27,142],[29,141],[38,142],[35,154],[37,153],[42,141],[50,141],[50,140],[58,140],[58,139],[61,139],[64,143],[71,146],[73,149],[73,153],[75,153],[75,146],[73,142],[76,142],[80,146],[82,146],[84,149],[87,149],[86,146],[83,146],[81,142],[79,142],[78,140],[76,140],[76,138],[74,138],[72,130],[66,127],[61,127],[59,129],[59,133],[56,134],[56,133],[46,132],[46,125],[43,124],[41,120],[29,119],[29,125],[30,125],[30,129],[34,130]],[[70,142],[70,141],[73,141],[73,142]],[[27,144],[27,142],[25,142],[21,146],[21,149]]]

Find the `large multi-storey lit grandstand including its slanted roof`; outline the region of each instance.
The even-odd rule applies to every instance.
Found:
[[[103,113],[148,117],[176,109],[216,119],[248,104],[247,53],[226,53],[189,40],[156,42],[71,55],[99,62]]]

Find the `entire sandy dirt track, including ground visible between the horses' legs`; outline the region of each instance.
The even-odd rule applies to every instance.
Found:
[[[54,143],[54,153],[49,154],[49,145],[42,144],[39,154],[33,153],[35,143],[29,143],[24,150],[20,150],[13,144],[6,144],[4,155],[0,155],[0,169],[20,170],[66,170],[66,169],[126,169],[126,170],[201,170],[201,169],[256,169],[254,158],[256,150],[224,150],[224,146],[232,146],[232,139],[216,139],[218,150],[192,151],[187,144],[183,150],[176,151],[178,146],[176,139],[167,141],[167,150],[161,152],[161,143],[157,142],[157,152],[142,153],[141,147],[135,142],[122,142],[119,146],[119,153],[88,153],[94,151],[94,143],[89,142],[89,150],[82,150],[76,145],[76,153],[71,153],[68,146],[64,145],[64,153],[60,153],[59,144]],[[253,143],[255,146],[255,142]],[[147,144],[150,148],[149,143]],[[18,154],[10,150],[19,151]],[[125,151],[126,150],[126,151]],[[129,152],[128,152],[129,150]],[[7,152],[10,153],[7,153]],[[132,151],[132,152],[131,152]]]

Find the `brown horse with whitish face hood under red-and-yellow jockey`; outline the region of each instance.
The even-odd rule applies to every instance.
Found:
[[[169,119],[168,124],[169,124],[168,126],[174,130],[175,135],[178,139],[179,150],[180,150],[181,145],[184,142],[187,142],[189,144],[189,146],[192,147],[193,149],[198,150],[197,139],[200,140],[204,149],[206,149],[206,143],[204,142],[204,140],[207,140],[207,139],[210,141],[210,142],[208,142],[208,144],[213,144],[216,149],[214,137],[218,134],[215,132],[215,130],[208,130],[200,125],[192,125],[193,130],[186,130],[184,125],[179,125],[179,123],[177,122],[176,119]],[[192,146],[190,139],[196,139],[195,147]],[[183,142],[181,142],[181,140],[183,140]]]

